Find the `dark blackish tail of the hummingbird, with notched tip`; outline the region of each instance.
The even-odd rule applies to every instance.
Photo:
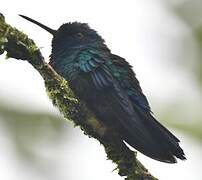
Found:
[[[137,114],[134,116],[133,121],[131,119],[122,121],[126,128],[123,132],[124,140],[138,151],[158,161],[176,163],[176,157],[185,160],[185,154],[179,146],[179,139],[152,115],[146,114],[137,107],[135,109]],[[141,128],[144,131],[144,136],[140,135],[141,141],[139,141],[139,137],[137,138],[138,133],[134,131],[131,124],[134,121],[138,121],[143,125]]]

